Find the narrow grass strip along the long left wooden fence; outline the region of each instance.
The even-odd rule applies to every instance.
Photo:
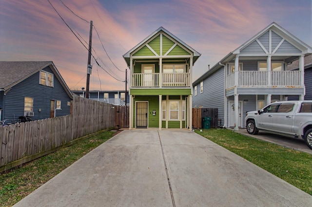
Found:
[[[40,157],[21,168],[0,173],[0,207],[10,207],[56,176],[79,158],[114,136],[104,132]]]

